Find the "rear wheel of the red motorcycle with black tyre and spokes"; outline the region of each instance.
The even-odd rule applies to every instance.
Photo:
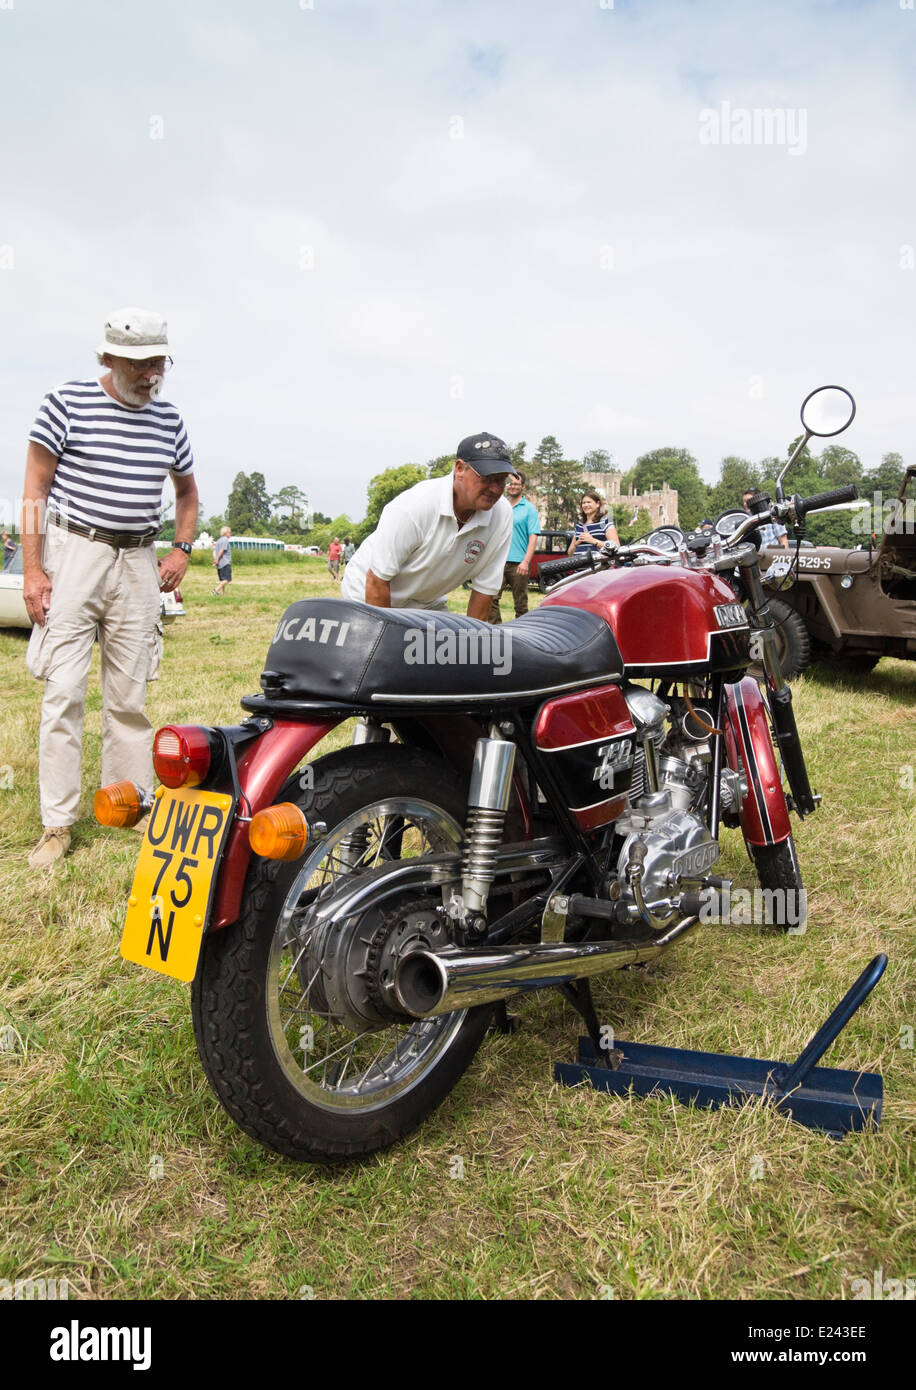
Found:
[[[293,801],[327,834],[292,863],[253,859],[238,922],[204,937],[192,987],[195,1037],[213,1090],[246,1134],[297,1162],[334,1163],[410,1134],[470,1066],[492,1005],[366,1031],[342,1023],[324,994],[341,938],[328,929],[320,935],[318,926],[310,933],[311,905],[345,873],[457,849],[467,787],[428,753],[367,745],[318,759],[277,801]],[[441,902],[441,891],[435,897]],[[407,912],[416,885],[404,898]],[[353,927],[354,951],[371,912]],[[389,920],[373,919],[379,952]],[[309,972],[317,960],[311,974],[303,958]],[[361,988],[356,973],[346,980]]]

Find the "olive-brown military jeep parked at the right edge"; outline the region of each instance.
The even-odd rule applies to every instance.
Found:
[[[760,573],[767,592],[803,623],[795,641],[809,638],[809,653],[795,653],[795,669],[820,662],[837,670],[870,671],[881,656],[916,660],[916,466],[910,464],[895,506],[888,506],[877,538],[845,550],[805,546],[795,553],[767,546]]]

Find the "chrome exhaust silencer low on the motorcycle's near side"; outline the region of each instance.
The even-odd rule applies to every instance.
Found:
[[[528,990],[549,990],[569,980],[620,970],[662,955],[699,917],[682,917],[653,941],[550,942],[496,949],[413,951],[395,977],[395,994],[414,1019],[455,1013],[478,1004],[496,1004]]]

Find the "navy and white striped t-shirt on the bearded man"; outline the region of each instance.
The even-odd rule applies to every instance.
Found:
[[[50,391],[29,439],[57,456],[49,512],[110,531],[158,531],[165,475],[193,468],[174,406],[122,406],[95,379]]]

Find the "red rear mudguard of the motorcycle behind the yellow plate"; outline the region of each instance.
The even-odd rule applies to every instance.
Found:
[[[339,723],[341,720],[336,719],[321,723],[278,719],[267,733],[249,744],[239,758],[239,787],[242,788],[242,808],[246,819],[236,819],[229,831],[220,866],[213,912],[210,913],[210,931],[228,927],[239,915],[245,876],[252,859],[252,847],[247,838],[250,817],[263,810],[264,806],[272,805],[274,796],[293,767]]]

